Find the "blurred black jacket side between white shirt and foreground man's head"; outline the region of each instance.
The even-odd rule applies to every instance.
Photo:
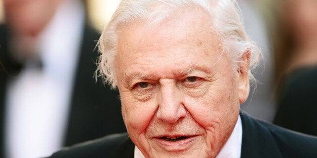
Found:
[[[101,82],[95,83],[93,77],[98,57],[95,46],[99,37],[97,31],[85,25],[68,116],[66,146],[126,131],[119,92],[102,87]]]

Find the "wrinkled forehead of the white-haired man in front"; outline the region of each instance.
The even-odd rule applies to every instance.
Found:
[[[120,30],[116,67],[126,71],[152,66],[157,70],[173,67],[173,73],[181,73],[193,65],[211,66],[222,54],[212,19],[199,10],[183,12],[155,26],[135,22]]]

